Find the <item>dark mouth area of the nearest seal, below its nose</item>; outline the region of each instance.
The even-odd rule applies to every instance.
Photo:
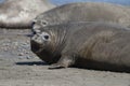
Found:
[[[31,45],[31,51],[34,52],[34,53],[40,53],[41,51],[42,51],[42,46],[41,46],[41,44],[38,44],[37,42],[35,42],[35,41],[30,41],[30,45]]]

